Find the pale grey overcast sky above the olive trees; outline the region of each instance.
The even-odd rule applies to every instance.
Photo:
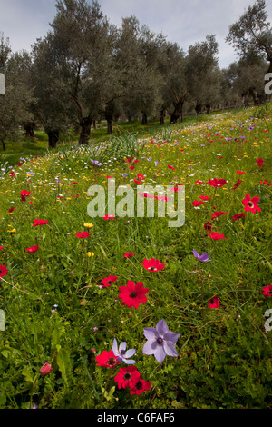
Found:
[[[87,0],[92,4],[92,0]],[[225,43],[228,27],[253,5],[254,0],[99,0],[103,15],[121,26],[121,18],[135,15],[154,33],[162,33],[186,52],[189,45],[216,35],[220,68],[237,60],[232,45]],[[272,2],[266,1],[272,22]],[[12,50],[31,50],[44,37],[55,15],[55,0],[0,0],[0,32],[9,37]]]

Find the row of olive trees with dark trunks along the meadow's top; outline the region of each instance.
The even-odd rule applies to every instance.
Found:
[[[271,66],[271,30],[265,1],[257,0],[239,22],[229,28],[227,41],[240,54],[238,63],[220,70],[214,35],[189,46],[155,35],[135,16],[111,25],[100,5],[86,0],[57,0],[51,30],[37,39],[31,53],[12,54],[2,35],[0,72],[6,94],[0,99],[0,136],[5,139],[24,126],[44,126],[49,146],[71,126],[79,129],[79,144],[88,144],[91,127],[105,119],[108,134],[119,117],[128,120],[166,114],[170,123],[183,114],[237,104],[250,94],[262,100],[264,75]],[[246,43],[247,42],[247,43]],[[270,50],[269,50],[270,49]]]

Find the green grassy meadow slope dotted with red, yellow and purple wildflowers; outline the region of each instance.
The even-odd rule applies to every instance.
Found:
[[[0,408],[272,408],[271,118],[2,158]],[[153,216],[109,212],[111,180]],[[184,221],[140,185],[169,188],[172,214],[182,188]]]

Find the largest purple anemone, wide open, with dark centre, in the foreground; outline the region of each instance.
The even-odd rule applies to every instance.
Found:
[[[144,328],[143,333],[148,340],[143,346],[143,354],[154,354],[160,364],[165,356],[178,356],[175,343],[177,343],[180,333],[170,332],[164,319],[156,324],[156,328]]]

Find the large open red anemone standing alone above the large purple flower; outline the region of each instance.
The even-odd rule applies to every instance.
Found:
[[[129,308],[139,307],[140,303],[146,303],[146,293],[149,292],[148,288],[143,287],[143,283],[139,282],[134,284],[131,280],[128,281],[127,286],[120,286],[121,292],[119,298],[122,300],[121,305],[127,305]]]

